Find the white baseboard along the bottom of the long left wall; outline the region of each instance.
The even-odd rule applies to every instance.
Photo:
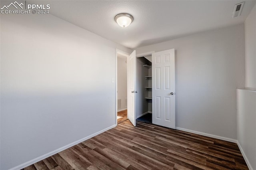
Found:
[[[87,140],[87,139],[89,139],[89,138],[92,138],[92,137],[94,137],[94,136],[96,136],[96,135],[98,135],[98,134],[100,134],[100,133],[102,133],[102,132],[105,132],[105,131],[107,131],[107,130],[109,130],[109,129],[111,129],[111,128],[114,128],[114,127],[116,127],[116,125],[112,125],[112,126],[110,126],[110,127],[107,127],[107,128],[105,128],[105,129],[103,129],[103,130],[100,130],[100,131],[94,133],[94,134],[91,134],[91,135],[86,136],[86,137],[84,137],[84,138],[82,138],[82,139],[80,139],[80,140],[77,140],[77,141],[75,141],[75,142],[72,142],[72,143],[70,143],[70,144],[68,144],[68,145],[66,145],[66,146],[63,146],[63,147],[61,147],[61,148],[58,148],[58,149],[56,149],[56,150],[54,150],[54,151],[52,151],[52,152],[49,152],[49,153],[47,153],[47,154],[44,154],[44,155],[39,156],[39,157],[37,157],[37,158],[34,158],[34,159],[32,159],[32,160],[30,160],[30,161],[28,161],[28,162],[25,162],[25,163],[23,163],[23,164],[20,164],[20,165],[18,165],[18,166],[15,166],[14,168],[10,168],[9,170],[20,170],[20,169],[22,169],[22,168],[26,168],[27,166],[30,166],[30,165],[32,165],[32,164],[34,164],[34,163],[36,163],[36,162],[39,162],[39,161],[41,161],[41,160],[43,160],[43,159],[45,159],[45,158],[48,158],[49,156],[52,156],[52,155],[54,155],[54,154],[57,154],[58,152],[61,152],[62,150],[65,150],[65,149],[67,149],[67,148],[70,148],[70,147],[72,147],[72,146],[74,146],[74,145],[76,145],[76,144],[79,144],[79,143],[83,142],[84,140]]]

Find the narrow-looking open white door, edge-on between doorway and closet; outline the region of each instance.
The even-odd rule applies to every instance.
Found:
[[[136,80],[136,51],[134,50],[127,59],[127,117],[131,121],[132,125],[136,126],[135,117],[135,80]]]

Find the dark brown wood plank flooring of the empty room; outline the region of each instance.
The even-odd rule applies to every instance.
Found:
[[[24,170],[248,170],[235,143],[136,124],[124,121]]]

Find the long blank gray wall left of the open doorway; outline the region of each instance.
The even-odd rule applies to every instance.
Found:
[[[116,124],[116,43],[52,15],[1,15],[6,170]]]

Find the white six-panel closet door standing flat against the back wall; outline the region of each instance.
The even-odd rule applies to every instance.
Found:
[[[175,128],[175,52],[152,53],[152,123]]]

